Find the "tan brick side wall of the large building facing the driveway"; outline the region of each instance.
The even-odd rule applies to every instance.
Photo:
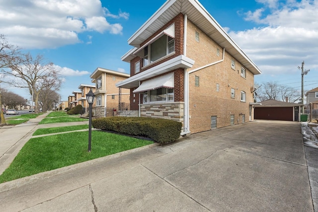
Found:
[[[199,42],[195,32],[199,32]],[[219,48],[220,56],[217,56]],[[203,33],[192,22],[187,25],[187,57],[195,64],[188,71],[222,59],[223,49]],[[225,52],[224,62],[189,74],[189,115],[190,131],[198,133],[211,130],[211,116],[217,116],[217,128],[231,125],[231,115],[235,115],[235,124],[249,121],[249,102],[253,102],[250,87],[254,83],[253,74],[246,68],[246,78],[240,76],[241,65],[236,61],[236,69],[231,68],[231,58]],[[199,77],[199,86],[195,86],[195,76]],[[219,92],[217,92],[217,83]],[[231,88],[235,89],[235,98],[231,98]],[[246,101],[240,101],[240,92],[246,93]]]

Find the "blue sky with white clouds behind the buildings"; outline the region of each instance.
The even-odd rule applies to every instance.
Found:
[[[138,2],[138,4],[136,4]],[[127,40],[165,0],[0,0],[0,34],[63,69],[62,100],[97,68],[129,73]],[[199,0],[263,72],[301,94],[318,87],[318,0]],[[27,90],[8,88],[30,98]]]

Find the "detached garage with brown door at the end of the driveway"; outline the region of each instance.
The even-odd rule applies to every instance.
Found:
[[[300,122],[302,104],[281,102],[274,99],[259,103],[259,105],[254,105],[254,119]]]

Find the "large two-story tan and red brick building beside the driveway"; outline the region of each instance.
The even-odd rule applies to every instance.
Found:
[[[181,135],[253,119],[261,71],[197,0],[167,0],[128,40],[122,60],[140,116],[183,124]]]

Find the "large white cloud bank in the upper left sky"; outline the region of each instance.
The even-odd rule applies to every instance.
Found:
[[[128,19],[129,14],[113,15],[100,0],[0,0],[0,32],[22,48],[81,43],[79,33],[85,31],[121,34],[122,25],[106,17]]]

